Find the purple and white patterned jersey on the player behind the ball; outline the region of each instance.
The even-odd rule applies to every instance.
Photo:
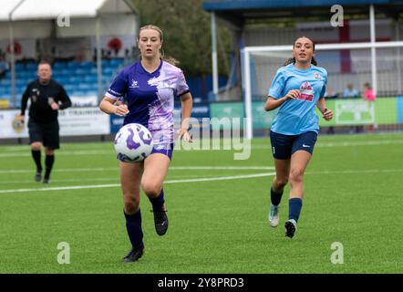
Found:
[[[129,114],[123,125],[140,123],[150,130],[154,144],[171,144],[173,99],[189,91],[180,68],[161,61],[160,67],[150,73],[139,61],[119,73],[106,96],[128,104]]]

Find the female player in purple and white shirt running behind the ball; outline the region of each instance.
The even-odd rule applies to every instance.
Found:
[[[152,134],[154,148],[144,162],[120,162],[120,185],[123,192],[126,228],[132,245],[124,263],[135,262],[144,253],[140,213],[140,187],[149,197],[158,235],[168,229],[162,183],[170,166],[173,151],[173,102],[181,98],[179,136],[191,142],[188,133],[191,117],[191,92],[183,72],[174,60],[165,60],[160,49],[163,35],[158,26],[142,26],[138,46],[140,61],[124,68],[113,81],[100,110],[125,117],[123,125],[140,123]],[[124,102],[121,102],[124,100]]]

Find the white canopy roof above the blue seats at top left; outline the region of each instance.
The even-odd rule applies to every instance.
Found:
[[[14,10],[14,11],[13,11]],[[98,14],[133,13],[134,7],[124,0],[2,0],[0,21],[95,17]]]

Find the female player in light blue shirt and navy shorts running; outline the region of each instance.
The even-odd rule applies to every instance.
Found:
[[[293,58],[275,74],[264,110],[279,108],[270,131],[275,177],[271,187],[269,224],[279,223],[279,204],[284,186],[290,182],[289,216],[285,236],[296,230],[304,196],[304,172],[312,156],[319,132],[315,106],[325,120],[333,112],[325,106],[327,72],[316,67],[315,44],[303,36],[294,41]]]

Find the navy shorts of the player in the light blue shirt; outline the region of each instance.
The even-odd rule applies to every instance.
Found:
[[[284,135],[270,131],[273,157],[275,159],[290,159],[295,151],[303,150],[309,153],[314,152],[317,133],[306,131],[299,135]]]

